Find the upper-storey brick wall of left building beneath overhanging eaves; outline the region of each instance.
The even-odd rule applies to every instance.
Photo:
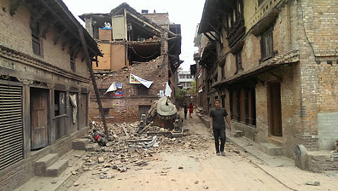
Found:
[[[70,54],[69,45],[65,45],[65,49],[62,50],[61,42],[70,41],[65,35],[58,40],[58,43],[54,45],[54,37],[57,35],[57,29],[51,27],[46,33],[46,39],[40,37],[42,44],[42,56],[37,56],[32,51],[32,32],[30,30],[30,11],[23,5],[18,6],[18,10],[15,11],[15,15],[9,14],[9,1],[0,0],[0,44],[10,49],[23,52],[34,58],[50,63],[54,66],[58,66],[63,70],[70,70]],[[4,11],[4,9],[5,11]],[[40,28],[46,27],[47,23],[40,23]],[[75,73],[89,78],[87,72],[87,65],[82,61],[82,52],[77,55],[75,59]],[[73,72],[72,72],[73,73]]]

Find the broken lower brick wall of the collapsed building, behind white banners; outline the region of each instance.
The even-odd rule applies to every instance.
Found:
[[[137,95],[137,86],[129,83],[130,73],[153,81],[149,88],[149,95]],[[107,90],[113,82],[123,83],[123,98],[112,99],[103,98],[102,105],[109,108],[108,122],[122,123],[133,122],[139,119],[139,106],[151,105],[152,102],[159,99],[160,90],[165,90],[165,82],[168,82],[168,58],[160,56],[154,61],[140,63],[130,66],[127,70],[119,70],[116,73],[107,74],[96,78],[99,89]],[[91,102],[89,105],[89,118],[91,120],[100,120],[99,109],[96,103],[94,92],[91,93]]]

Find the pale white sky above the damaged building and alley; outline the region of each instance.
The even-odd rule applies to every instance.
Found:
[[[169,13],[170,23],[181,24],[182,32],[182,53],[181,60],[184,63],[181,67],[189,70],[189,66],[194,64],[194,35],[196,25],[201,21],[201,15],[205,0],[63,0],[73,15],[77,16],[83,13],[109,13],[113,8],[123,2],[129,4],[132,8],[141,13],[142,9],[153,13]],[[81,22],[84,25],[83,22]]]

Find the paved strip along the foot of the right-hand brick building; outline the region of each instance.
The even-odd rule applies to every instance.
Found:
[[[197,116],[209,127],[210,119],[208,116],[199,113],[200,108],[197,108]],[[289,159],[286,156],[270,156],[261,152],[259,144],[247,139],[246,137],[230,137],[230,131],[226,130],[227,141],[236,144],[241,147],[244,152],[251,154],[253,157],[249,157],[255,166],[261,168],[262,171],[269,174],[278,182],[282,183],[290,190],[332,190],[332,186],[338,190],[338,172],[337,171],[325,171],[325,173],[313,173],[310,171],[303,171],[297,168],[293,159]],[[309,187],[305,185],[306,182],[319,181],[320,186]]]

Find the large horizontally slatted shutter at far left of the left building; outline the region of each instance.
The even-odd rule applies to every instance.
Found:
[[[23,159],[22,89],[0,83],[0,171]]]

